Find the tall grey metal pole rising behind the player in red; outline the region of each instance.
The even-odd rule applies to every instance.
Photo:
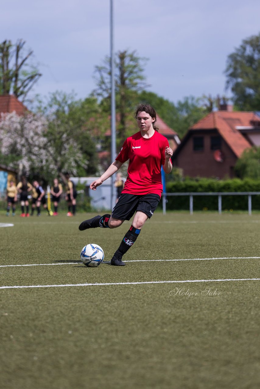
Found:
[[[114,54],[114,25],[113,0],[110,0],[110,58],[111,58],[111,163],[116,156],[116,124],[115,124],[115,54]],[[111,209],[115,206],[115,175],[111,176]]]

